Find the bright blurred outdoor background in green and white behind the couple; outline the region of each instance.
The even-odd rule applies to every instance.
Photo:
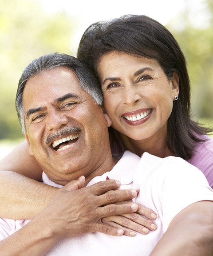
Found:
[[[0,159],[24,140],[15,110],[23,69],[46,53],[76,56],[90,24],[125,14],[172,32],[187,60],[192,116],[213,125],[213,0],[0,0]]]

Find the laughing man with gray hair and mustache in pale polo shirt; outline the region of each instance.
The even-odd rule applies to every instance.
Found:
[[[213,191],[203,174],[175,157],[160,159],[145,153],[140,159],[125,152],[121,160],[114,159],[107,131],[111,121],[95,91],[87,68],[71,56],[43,56],[25,69],[16,95],[20,123],[30,152],[43,169],[43,182],[65,186],[30,222],[0,221],[3,255],[212,255]],[[188,179],[191,172],[193,184]],[[126,194],[108,191],[119,187],[113,179],[121,180],[122,189],[129,188]],[[67,213],[70,193],[81,208],[87,208],[87,215],[82,217],[76,204]],[[154,208],[157,231],[134,238],[93,232],[100,218],[91,224],[90,205],[99,212],[119,214],[122,205],[104,206],[116,202],[116,193],[120,200],[137,196],[136,203]],[[102,204],[97,204],[97,197]],[[134,212],[137,205],[129,208]],[[90,233],[84,235],[87,230]]]

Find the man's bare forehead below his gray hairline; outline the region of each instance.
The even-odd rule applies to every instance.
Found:
[[[59,103],[67,98],[81,101],[90,99],[91,96],[81,88],[72,70],[66,67],[56,67],[31,77],[27,81],[23,103],[31,108],[46,103]]]

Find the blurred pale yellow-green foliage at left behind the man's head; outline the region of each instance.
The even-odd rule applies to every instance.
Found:
[[[23,69],[50,52],[71,51],[73,21],[65,13],[47,15],[34,0],[4,1],[0,8],[0,139],[21,134],[15,111]]]

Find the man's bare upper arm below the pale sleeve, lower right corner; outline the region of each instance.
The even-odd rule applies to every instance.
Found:
[[[171,221],[150,256],[212,256],[213,202],[189,205]]]

